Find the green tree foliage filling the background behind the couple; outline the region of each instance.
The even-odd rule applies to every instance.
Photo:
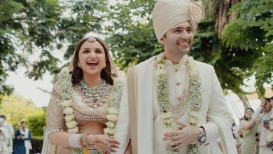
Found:
[[[272,12],[270,0],[238,0],[230,11],[235,18],[216,34],[218,12],[226,1],[203,0],[207,17],[199,25],[190,55],[214,65],[225,90],[245,94],[244,78],[255,75],[255,86],[272,85]],[[27,68],[38,80],[48,71],[59,72],[62,52],[68,60],[76,43],[88,32],[103,34],[116,64],[126,70],[162,52],[153,32],[154,0],[2,0],[0,5],[0,94],[10,94],[8,71]],[[38,55],[32,62],[29,57]]]

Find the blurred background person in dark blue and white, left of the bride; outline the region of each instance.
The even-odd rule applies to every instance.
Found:
[[[31,146],[31,132],[27,129],[27,123],[22,121],[20,130],[15,133],[14,154],[29,154]]]

